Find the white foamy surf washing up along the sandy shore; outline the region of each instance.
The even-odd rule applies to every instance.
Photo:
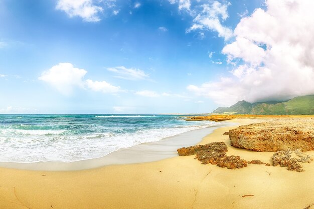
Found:
[[[191,130],[201,129],[214,122],[195,122],[190,126],[141,129],[132,133],[113,134],[110,132],[80,135],[58,135],[64,130],[14,130],[25,134],[23,137],[0,135],[2,162],[73,162],[105,156],[121,148],[141,143],[160,141]],[[15,132],[16,133],[16,132]],[[10,134],[9,134],[10,135]]]

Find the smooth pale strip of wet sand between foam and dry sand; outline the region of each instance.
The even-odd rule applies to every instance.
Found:
[[[192,146],[203,140],[215,129],[235,125],[222,121],[207,128],[191,130],[156,142],[141,143],[128,148],[121,148],[103,157],[78,160],[73,162],[0,162],[0,167],[41,171],[73,171],[93,169],[114,164],[135,164],[153,162],[178,156],[177,149]]]

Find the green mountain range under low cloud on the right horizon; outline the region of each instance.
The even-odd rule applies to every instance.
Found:
[[[314,95],[294,97],[284,102],[239,101],[230,107],[218,107],[212,113],[217,114],[253,114],[253,115],[312,115],[314,114]]]

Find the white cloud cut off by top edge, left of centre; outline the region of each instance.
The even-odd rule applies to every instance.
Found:
[[[70,18],[78,16],[86,22],[100,21],[99,14],[103,12],[93,0],[58,0],[56,9],[64,11]]]

